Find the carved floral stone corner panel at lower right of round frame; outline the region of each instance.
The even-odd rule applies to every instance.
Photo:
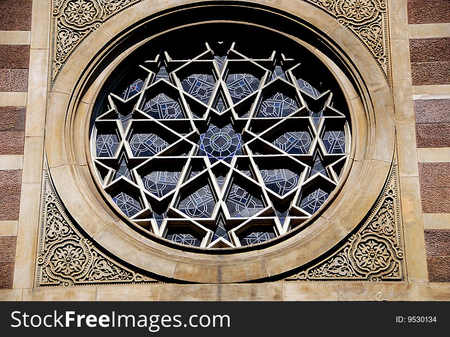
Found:
[[[397,169],[363,226],[331,257],[286,281],[403,281]]]

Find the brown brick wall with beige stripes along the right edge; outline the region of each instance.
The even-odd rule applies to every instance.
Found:
[[[409,0],[408,21],[429,281],[450,282],[450,1]]]

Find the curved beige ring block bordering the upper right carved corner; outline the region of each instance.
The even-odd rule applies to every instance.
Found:
[[[358,71],[361,72],[369,90],[387,87],[384,75],[379,70],[375,59],[369,54],[363,44],[344,26],[334,26],[328,32],[328,36],[333,39],[354,62]]]

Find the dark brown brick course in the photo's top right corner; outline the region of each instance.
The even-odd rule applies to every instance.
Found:
[[[409,0],[409,24],[438,24],[450,22],[448,0]]]

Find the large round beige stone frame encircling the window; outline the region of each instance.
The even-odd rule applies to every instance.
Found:
[[[302,18],[296,25],[324,41],[320,48],[305,46],[335,74],[349,105],[351,165],[345,172],[347,177],[343,177],[346,183],[335,190],[328,207],[305,231],[292,231],[275,245],[223,254],[181,251],[148,239],[131,229],[132,223],[110,211],[86,156],[92,104],[115,65],[138,47],[135,44],[123,51],[120,41],[158,15],[170,13],[154,10],[152,16],[149,11],[131,8],[132,12],[117,14],[79,46],[49,94],[45,150],[50,175],[64,207],[98,245],[128,264],[163,277],[205,283],[243,282],[279,275],[322,256],[366,217],[394,159],[395,119],[388,84],[368,51],[335,19],[306,3],[295,7],[282,3],[278,8]],[[264,10],[272,11],[269,7]],[[280,13],[275,9],[273,12]],[[289,19],[294,20],[293,16]],[[110,59],[114,54],[111,51],[116,55],[114,59]],[[341,65],[328,56],[340,60]],[[108,65],[101,68],[104,64]]]

